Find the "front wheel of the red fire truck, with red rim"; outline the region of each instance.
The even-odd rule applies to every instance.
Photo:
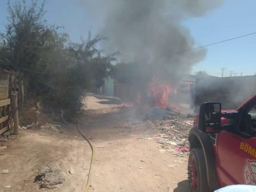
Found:
[[[188,179],[191,191],[208,192],[205,158],[202,149],[191,149],[188,159]]]

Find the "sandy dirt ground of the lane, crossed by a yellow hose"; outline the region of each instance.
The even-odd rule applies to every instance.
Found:
[[[147,139],[159,132],[155,127],[131,126],[140,112],[120,109],[117,99],[88,96],[85,102],[87,112],[78,120],[96,158],[89,191],[190,191],[188,156],[161,153],[155,140]],[[91,150],[75,125],[62,125],[58,132],[21,130],[18,139],[0,145],[7,145],[0,150],[0,171],[9,170],[0,174],[0,191],[45,191],[34,183],[43,165],[58,167],[66,175],[62,185],[49,191],[85,190]]]

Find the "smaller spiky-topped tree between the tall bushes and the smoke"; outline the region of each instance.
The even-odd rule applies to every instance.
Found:
[[[98,88],[103,85],[104,78],[112,75],[112,62],[116,61],[118,52],[102,55],[102,52],[96,48],[96,45],[101,40],[107,40],[105,37],[96,35],[93,39],[89,32],[88,39],[81,43],[72,43],[70,52],[75,58],[75,70],[78,73],[77,77],[81,82],[89,82],[91,85],[94,82]],[[83,85],[88,87],[89,85]]]

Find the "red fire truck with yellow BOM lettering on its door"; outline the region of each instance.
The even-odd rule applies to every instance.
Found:
[[[234,98],[239,97],[229,95],[223,99],[234,104],[238,102]],[[256,185],[256,94],[235,109],[222,106],[228,104],[201,104],[190,130],[188,178],[192,191],[209,192],[234,184]]]

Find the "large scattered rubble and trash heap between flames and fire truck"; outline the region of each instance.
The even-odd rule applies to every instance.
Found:
[[[159,134],[151,136],[159,145],[159,152],[171,152],[175,157],[184,157],[188,154],[188,132],[193,127],[193,116],[186,118],[186,116],[182,117],[180,114],[176,114],[165,118],[165,116],[170,116],[170,112],[160,108],[154,108],[149,114],[146,115],[147,120],[144,124],[153,124],[155,129],[160,131]],[[148,138],[150,137],[140,137],[139,139],[147,140]]]

